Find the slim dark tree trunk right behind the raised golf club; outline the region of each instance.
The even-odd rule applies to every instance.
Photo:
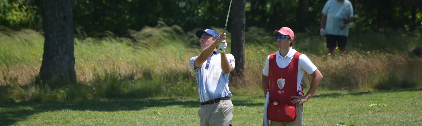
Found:
[[[236,60],[234,77],[236,77],[240,81],[240,84],[244,84],[244,81],[242,80],[245,66],[245,13],[246,0],[233,0],[231,25],[232,39],[230,50]]]

